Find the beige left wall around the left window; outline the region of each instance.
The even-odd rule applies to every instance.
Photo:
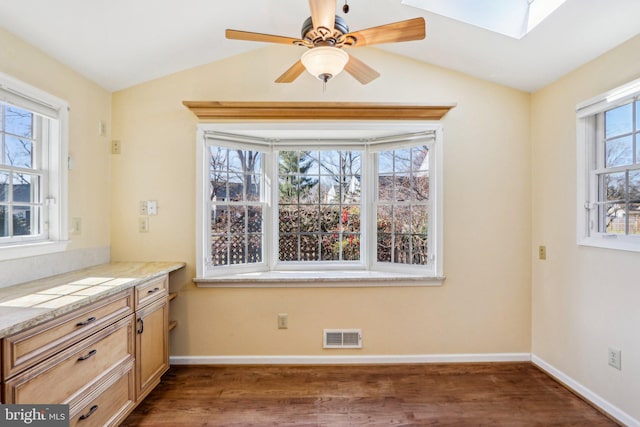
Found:
[[[82,219],[69,250],[108,247],[110,241],[109,137],[111,93],[0,28],[0,72],[66,100],[69,114],[69,217]]]

